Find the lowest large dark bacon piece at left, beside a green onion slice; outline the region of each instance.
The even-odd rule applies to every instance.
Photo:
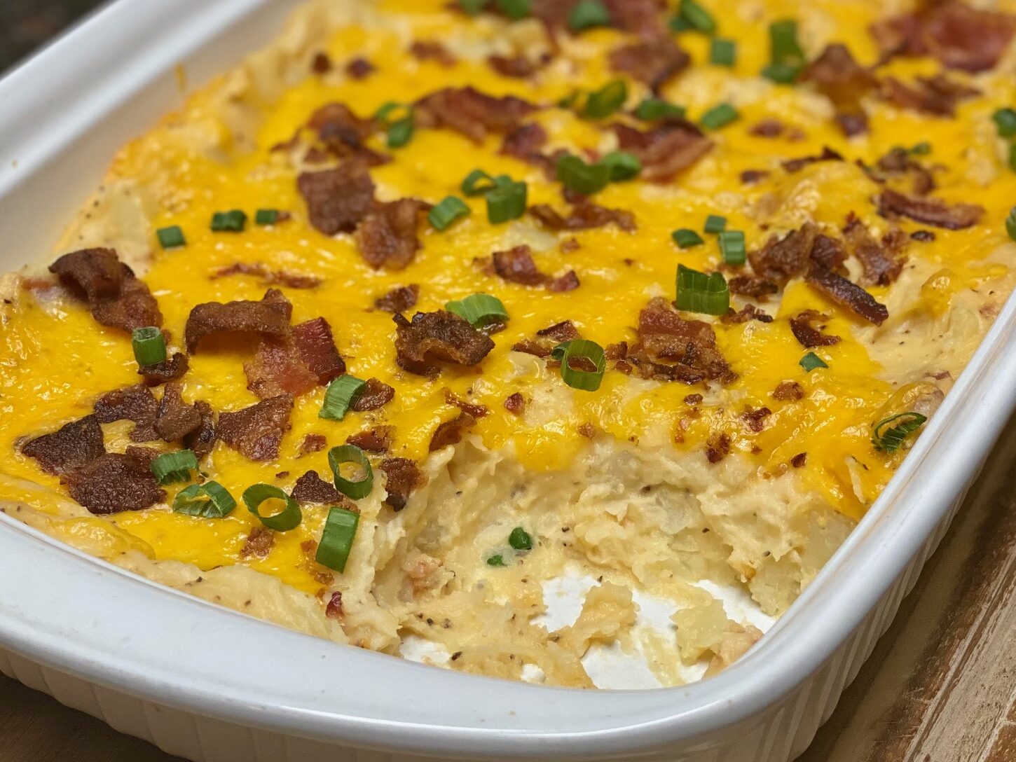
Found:
[[[137,454],[100,455],[64,481],[71,498],[97,515],[138,511],[166,500],[148,461]]]

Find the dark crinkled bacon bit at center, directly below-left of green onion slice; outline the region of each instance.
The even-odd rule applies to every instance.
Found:
[[[491,337],[451,312],[418,312],[409,322],[394,316],[395,361],[399,368],[422,376],[440,371],[436,363],[479,365],[494,348]]]

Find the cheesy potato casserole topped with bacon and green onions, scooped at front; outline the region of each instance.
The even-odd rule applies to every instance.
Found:
[[[455,670],[721,670],[1013,288],[1014,30],[1001,0],[310,2],[0,281],[0,510]]]

